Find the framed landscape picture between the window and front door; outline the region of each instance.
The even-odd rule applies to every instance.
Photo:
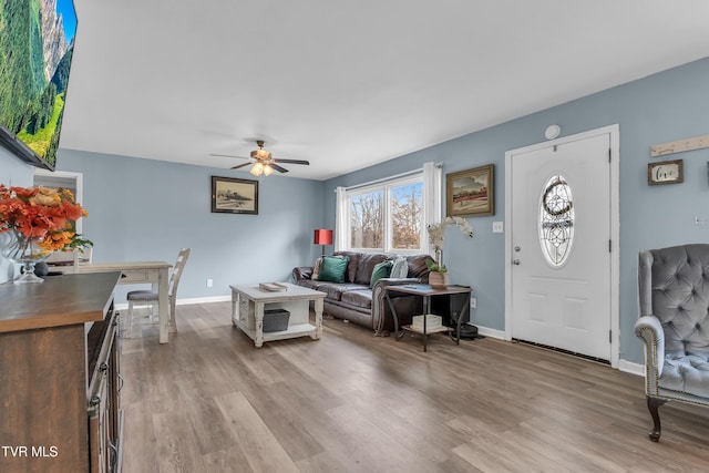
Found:
[[[445,213],[449,217],[495,215],[495,165],[445,175]]]

